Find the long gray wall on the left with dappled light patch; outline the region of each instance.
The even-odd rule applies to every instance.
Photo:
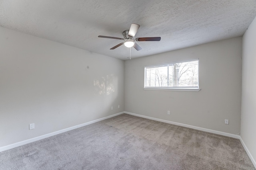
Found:
[[[124,61],[3,27],[0,37],[0,147],[124,111]]]

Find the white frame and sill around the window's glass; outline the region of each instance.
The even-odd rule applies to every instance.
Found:
[[[161,66],[168,66],[170,64],[177,64],[177,63],[186,63],[190,61],[198,61],[198,88],[197,87],[146,87],[146,68],[152,68],[152,67],[161,67]],[[144,66],[144,90],[170,90],[170,91],[192,91],[192,92],[198,92],[201,89],[199,88],[199,58],[198,59],[190,59],[190,60],[184,60],[184,61],[176,61],[176,62],[170,62],[170,63],[162,63],[162,64],[154,64],[154,65],[148,65]]]

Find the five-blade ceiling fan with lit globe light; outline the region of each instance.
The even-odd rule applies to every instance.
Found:
[[[111,50],[116,49],[117,47],[121,45],[125,45],[126,47],[134,47],[137,51],[141,50],[142,48],[135,42],[135,41],[160,41],[161,37],[142,37],[142,38],[134,38],[135,34],[137,33],[140,25],[136,23],[132,23],[129,30],[123,31],[124,38],[118,38],[118,37],[108,37],[99,35],[100,38],[112,38],[112,39],[121,39],[125,40],[124,42],[114,46],[111,48]]]

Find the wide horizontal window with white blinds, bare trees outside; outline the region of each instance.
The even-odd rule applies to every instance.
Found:
[[[193,59],[145,66],[144,88],[199,91],[198,65],[199,59]]]

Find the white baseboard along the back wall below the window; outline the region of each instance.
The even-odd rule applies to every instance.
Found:
[[[196,130],[199,130],[199,131],[204,131],[204,132],[209,132],[209,133],[215,133],[215,134],[222,135],[222,136],[227,136],[227,137],[232,137],[232,138],[240,139],[240,136],[239,136],[239,135],[234,135],[234,134],[231,134],[231,133],[226,133],[226,132],[221,132],[221,131],[215,131],[215,130],[206,129],[206,128],[202,128],[202,127],[197,127],[197,126],[192,126],[192,125],[186,125],[186,124],[183,124],[183,123],[177,123],[177,122],[174,122],[174,121],[168,121],[168,120],[158,119],[158,118],[149,117],[149,116],[144,116],[144,115],[138,115],[138,114],[136,114],[136,113],[130,113],[130,112],[127,112],[127,111],[124,111],[124,113],[127,113],[127,114],[129,114],[129,115],[138,116],[138,117],[143,117],[143,118],[146,118],[146,119],[161,121],[161,122],[169,123],[169,124],[172,124],[172,125],[178,125],[178,126],[188,127],[188,128],[196,129]]]

